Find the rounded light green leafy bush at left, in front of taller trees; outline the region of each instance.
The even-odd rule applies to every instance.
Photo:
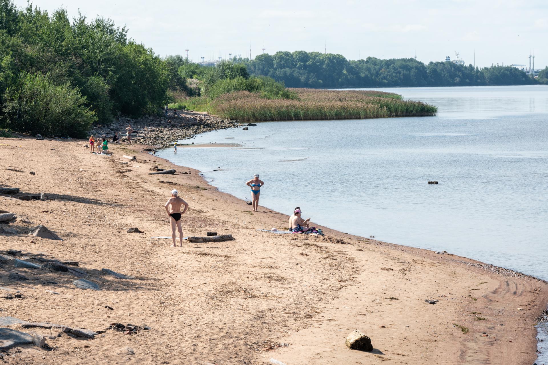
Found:
[[[55,85],[41,73],[22,72],[4,99],[3,127],[19,132],[84,138],[97,120],[78,89],[68,83]]]

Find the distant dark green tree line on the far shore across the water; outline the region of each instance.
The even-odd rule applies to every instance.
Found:
[[[474,67],[450,61],[423,62],[413,58],[347,60],[340,54],[276,52],[254,60],[235,59],[250,75],[269,76],[286,87],[346,88],[396,86],[524,85],[535,81],[512,66]]]

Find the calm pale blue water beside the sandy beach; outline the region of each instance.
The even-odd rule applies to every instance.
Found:
[[[258,173],[261,206],[279,212],[300,206],[336,230],[548,280],[548,87],[379,90],[434,104],[438,115],[264,122],[180,141],[242,147],[157,155],[244,199]],[[539,325],[540,338],[547,329]]]

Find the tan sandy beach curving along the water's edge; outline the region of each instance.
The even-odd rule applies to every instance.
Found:
[[[266,207],[251,212],[198,171],[142,151],[149,146],[111,144],[112,156],[98,156],[85,144],[0,138],[0,187],[44,193],[30,201],[0,194],[0,210],[16,216],[1,226],[19,233],[0,235],[1,316],[104,331],[85,339],[59,328],[2,326],[44,335],[47,345],[14,347],[3,353],[8,364],[530,365],[536,359],[534,325],[548,305],[544,281],[327,227],[324,237],[258,231],[285,229],[288,216]],[[149,175],[155,167],[177,173]],[[170,239],[151,238],[170,235],[164,204],[172,189],[190,204],[184,236],[218,232],[235,240],[174,248]],[[26,234],[40,224],[62,241]],[[132,227],[142,233],[128,233]],[[16,259],[78,266],[32,269],[16,267]],[[82,278],[101,290],[76,287]],[[20,295],[12,295],[16,290]],[[372,339],[372,352],[345,347],[355,329]]]

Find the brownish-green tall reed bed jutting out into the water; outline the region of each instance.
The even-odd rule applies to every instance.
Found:
[[[437,107],[402,96],[372,90],[290,89],[299,100],[263,99],[246,91],[219,96],[209,111],[238,121],[364,119],[433,116]]]

